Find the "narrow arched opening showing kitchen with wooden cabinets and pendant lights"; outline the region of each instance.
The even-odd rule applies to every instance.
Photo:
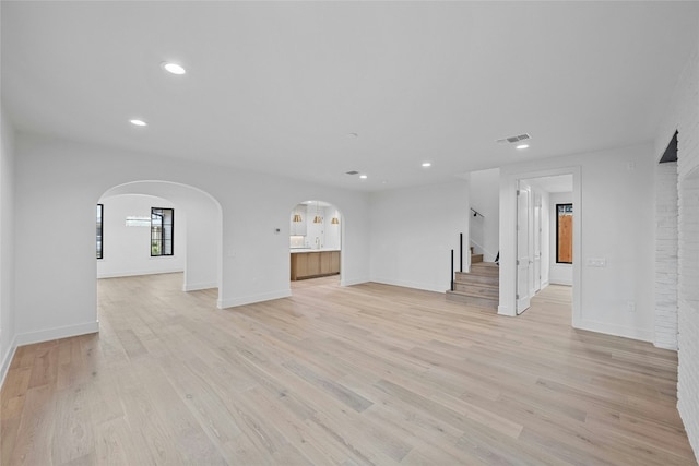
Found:
[[[304,201],[289,215],[292,285],[340,284],[343,219],[336,206],[320,200]],[[309,282],[310,280],[310,282]]]

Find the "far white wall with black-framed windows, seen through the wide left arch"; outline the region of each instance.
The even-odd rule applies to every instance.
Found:
[[[103,258],[97,260],[97,278],[182,272],[187,256],[187,215],[171,202],[144,194],[103,198]],[[127,226],[127,216],[151,218],[151,207],[174,208],[173,255],[151,256],[150,226]]]

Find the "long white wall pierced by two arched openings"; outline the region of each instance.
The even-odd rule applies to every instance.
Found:
[[[369,279],[366,193],[37,135],[17,134],[15,147],[19,343],[98,330],[95,204],[108,189],[138,180],[194,187],[221,204],[222,308],[291,295],[288,213],[308,199],[343,213],[341,283]]]

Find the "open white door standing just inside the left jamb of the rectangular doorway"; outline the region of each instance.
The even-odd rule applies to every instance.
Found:
[[[530,253],[530,195],[529,187],[520,183],[517,192],[517,313],[530,306],[532,255]]]

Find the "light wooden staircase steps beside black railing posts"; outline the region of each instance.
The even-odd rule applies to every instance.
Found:
[[[500,268],[495,262],[483,262],[483,254],[471,248],[471,272],[454,273],[454,290],[447,291],[450,301],[487,309],[498,309],[500,301]]]

